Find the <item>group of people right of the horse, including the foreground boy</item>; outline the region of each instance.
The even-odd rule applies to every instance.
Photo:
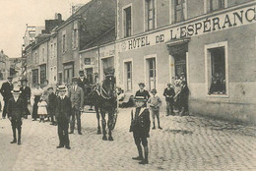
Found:
[[[180,111],[180,115],[182,116],[185,112],[188,111],[188,87],[186,85],[186,81],[184,76],[180,79],[176,79],[175,89],[171,86],[171,84],[167,84],[167,87],[164,88],[163,96],[166,101],[166,116],[174,115],[173,108]],[[179,85],[178,85],[179,84]],[[178,86],[178,87],[177,87]],[[149,91],[145,89],[145,84],[139,84],[140,89],[136,92],[134,101],[136,108],[131,111],[131,126],[130,132],[133,132],[134,142],[138,149],[138,156],[133,157],[134,160],[140,160],[140,164],[148,164],[149,163],[149,147],[148,147],[148,138],[150,138],[150,130],[151,130],[151,119],[150,113],[153,118],[153,127],[152,129],[156,129],[155,118],[158,120],[158,128],[160,127],[160,105],[161,100],[157,95],[158,91],[156,88],[151,90],[152,96]],[[177,88],[178,89],[177,89]],[[144,147],[144,155],[143,149]]]

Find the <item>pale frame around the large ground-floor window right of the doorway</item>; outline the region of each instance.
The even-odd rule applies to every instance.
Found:
[[[206,96],[207,97],[225,97],[228,98],[229,95],[229,80],[228,80],[228,47],[227,41],[212,43],[205,45],[205,85],[206,85]],[[208,49],[216,48],[216,47],[224,47],[224,70],[225,70],[225,88],[226,94],[208,94],[209,91],[209,69],[211,70],[211,66],[208,66],[208,59],[210,57]]]

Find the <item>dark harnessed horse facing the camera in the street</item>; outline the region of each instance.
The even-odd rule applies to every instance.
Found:
[[[113,116],[117,108],[117,95],[115,90],[115,78],[113,75],[107,75],[102,85],[96,85],[96,88],[89,94],[96,109],[97,134],[101,134],[99,117],[101,116],[101,127],[103,141],[113,141],[112,130],[114,127]],[[100,116],[99,116],[100,113]],[[108,139],[106,137],[105,114],[108,114],[107,128]]]

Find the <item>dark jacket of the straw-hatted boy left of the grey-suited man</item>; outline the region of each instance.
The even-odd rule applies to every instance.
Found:
[[[59,96],[56,100],[56,109],[55,116],[57,121],[65,120],[69,121],[69,117],[72,112],[71,101],[70,98],[65,96],[64,99],[61,99]]]

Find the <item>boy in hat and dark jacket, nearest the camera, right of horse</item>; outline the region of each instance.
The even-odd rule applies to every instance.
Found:
[[[148,164],[149,159],[149,147],[148,147],[148,140],[150,138],[150,127],[151,127],[151,120],[150,120],[150,112],[145,107],[145,103],[147,99],[144,96],[135,96],[135,103],[136,108],[132,110],[132,115],[134,114],[134,118],[132,117],[132,132],[134,142],[137,146],[139,156],[133,157],[134,160],[141,160],[140,164]],[[144,146],[144,156],[142,154],[142,146]]]

